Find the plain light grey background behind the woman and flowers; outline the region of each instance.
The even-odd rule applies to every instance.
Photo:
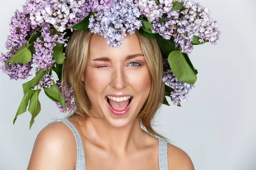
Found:
[[[197,0],[209,8],[222,31],[218,45],[195,46],[190,59],[198,69],[195,89],[182,107],[163,105],[156,130],[192,159],[196,170],[255,170],[255,39],[254,0]],[[25,0],[1,0],[0,51],[6,52],[9,20]],[[33,77],[35,72],[32,72]],[[29,80],[32,77],[29,77]],[[53,119],[64,117],[42,91],[41,112],[29,130],[27,111],[12,124],[22,84],[0,74],[0,169],[24,170],[36,136]],[[168,97],[168,101],[171,102]]]

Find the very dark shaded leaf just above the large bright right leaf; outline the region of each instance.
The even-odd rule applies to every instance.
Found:
[[[157,44],[163,52],[163,57],[168,58],[169,54],[175,50],[175,42],[172,39],[164,39],[159,34],[157,36]]]

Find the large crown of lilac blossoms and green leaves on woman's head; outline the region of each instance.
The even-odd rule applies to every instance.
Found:
[[[36,66],[35,77],[22,86],[24,96],[13,124],[29,105],[31,129],[41,111],[41,88],[61,112],[72,111],[73,88],[67,87],[63,94],[61,74],[65,45],[74,30],[99,34],[115,48],[126,31],[134,34],[135,29],[156,39],[163,54],[165,96],[181,106],[198,74],[188,54],[194,45],[220,40],[218,23],[209,14],[208,8],[193,0],[26,0],[23,11],[16,10],[10,20],[8,53],[0,52],[0,69],[10,79],[27,79],[32,76],[32,64]],[[52,71],[58,76],[56,82]],[[169,105],[166,97],[163,104]]]

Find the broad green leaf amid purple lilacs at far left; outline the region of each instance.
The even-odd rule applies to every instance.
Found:
[[[6,69],[8,70],[8,67],[7,67],[8,62],[11,62],[12,65],[13,63],[28,63],[32,58],[32,54],[28,49],[29,47],[30,45],[28,44],[25,44],[22,47],[20,47],[17,50],[16,54],[6,61],[5,63]]]

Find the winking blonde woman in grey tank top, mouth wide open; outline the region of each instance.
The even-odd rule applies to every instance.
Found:
[[[98,34],[73,32],[63,84],[73,86],[75,110],[41,130],[28,170],[82,170],[85,162],[87,170],[194,170],[189,156],[151,127],[164,99],[156,40],[126,35],[113,48]]]

